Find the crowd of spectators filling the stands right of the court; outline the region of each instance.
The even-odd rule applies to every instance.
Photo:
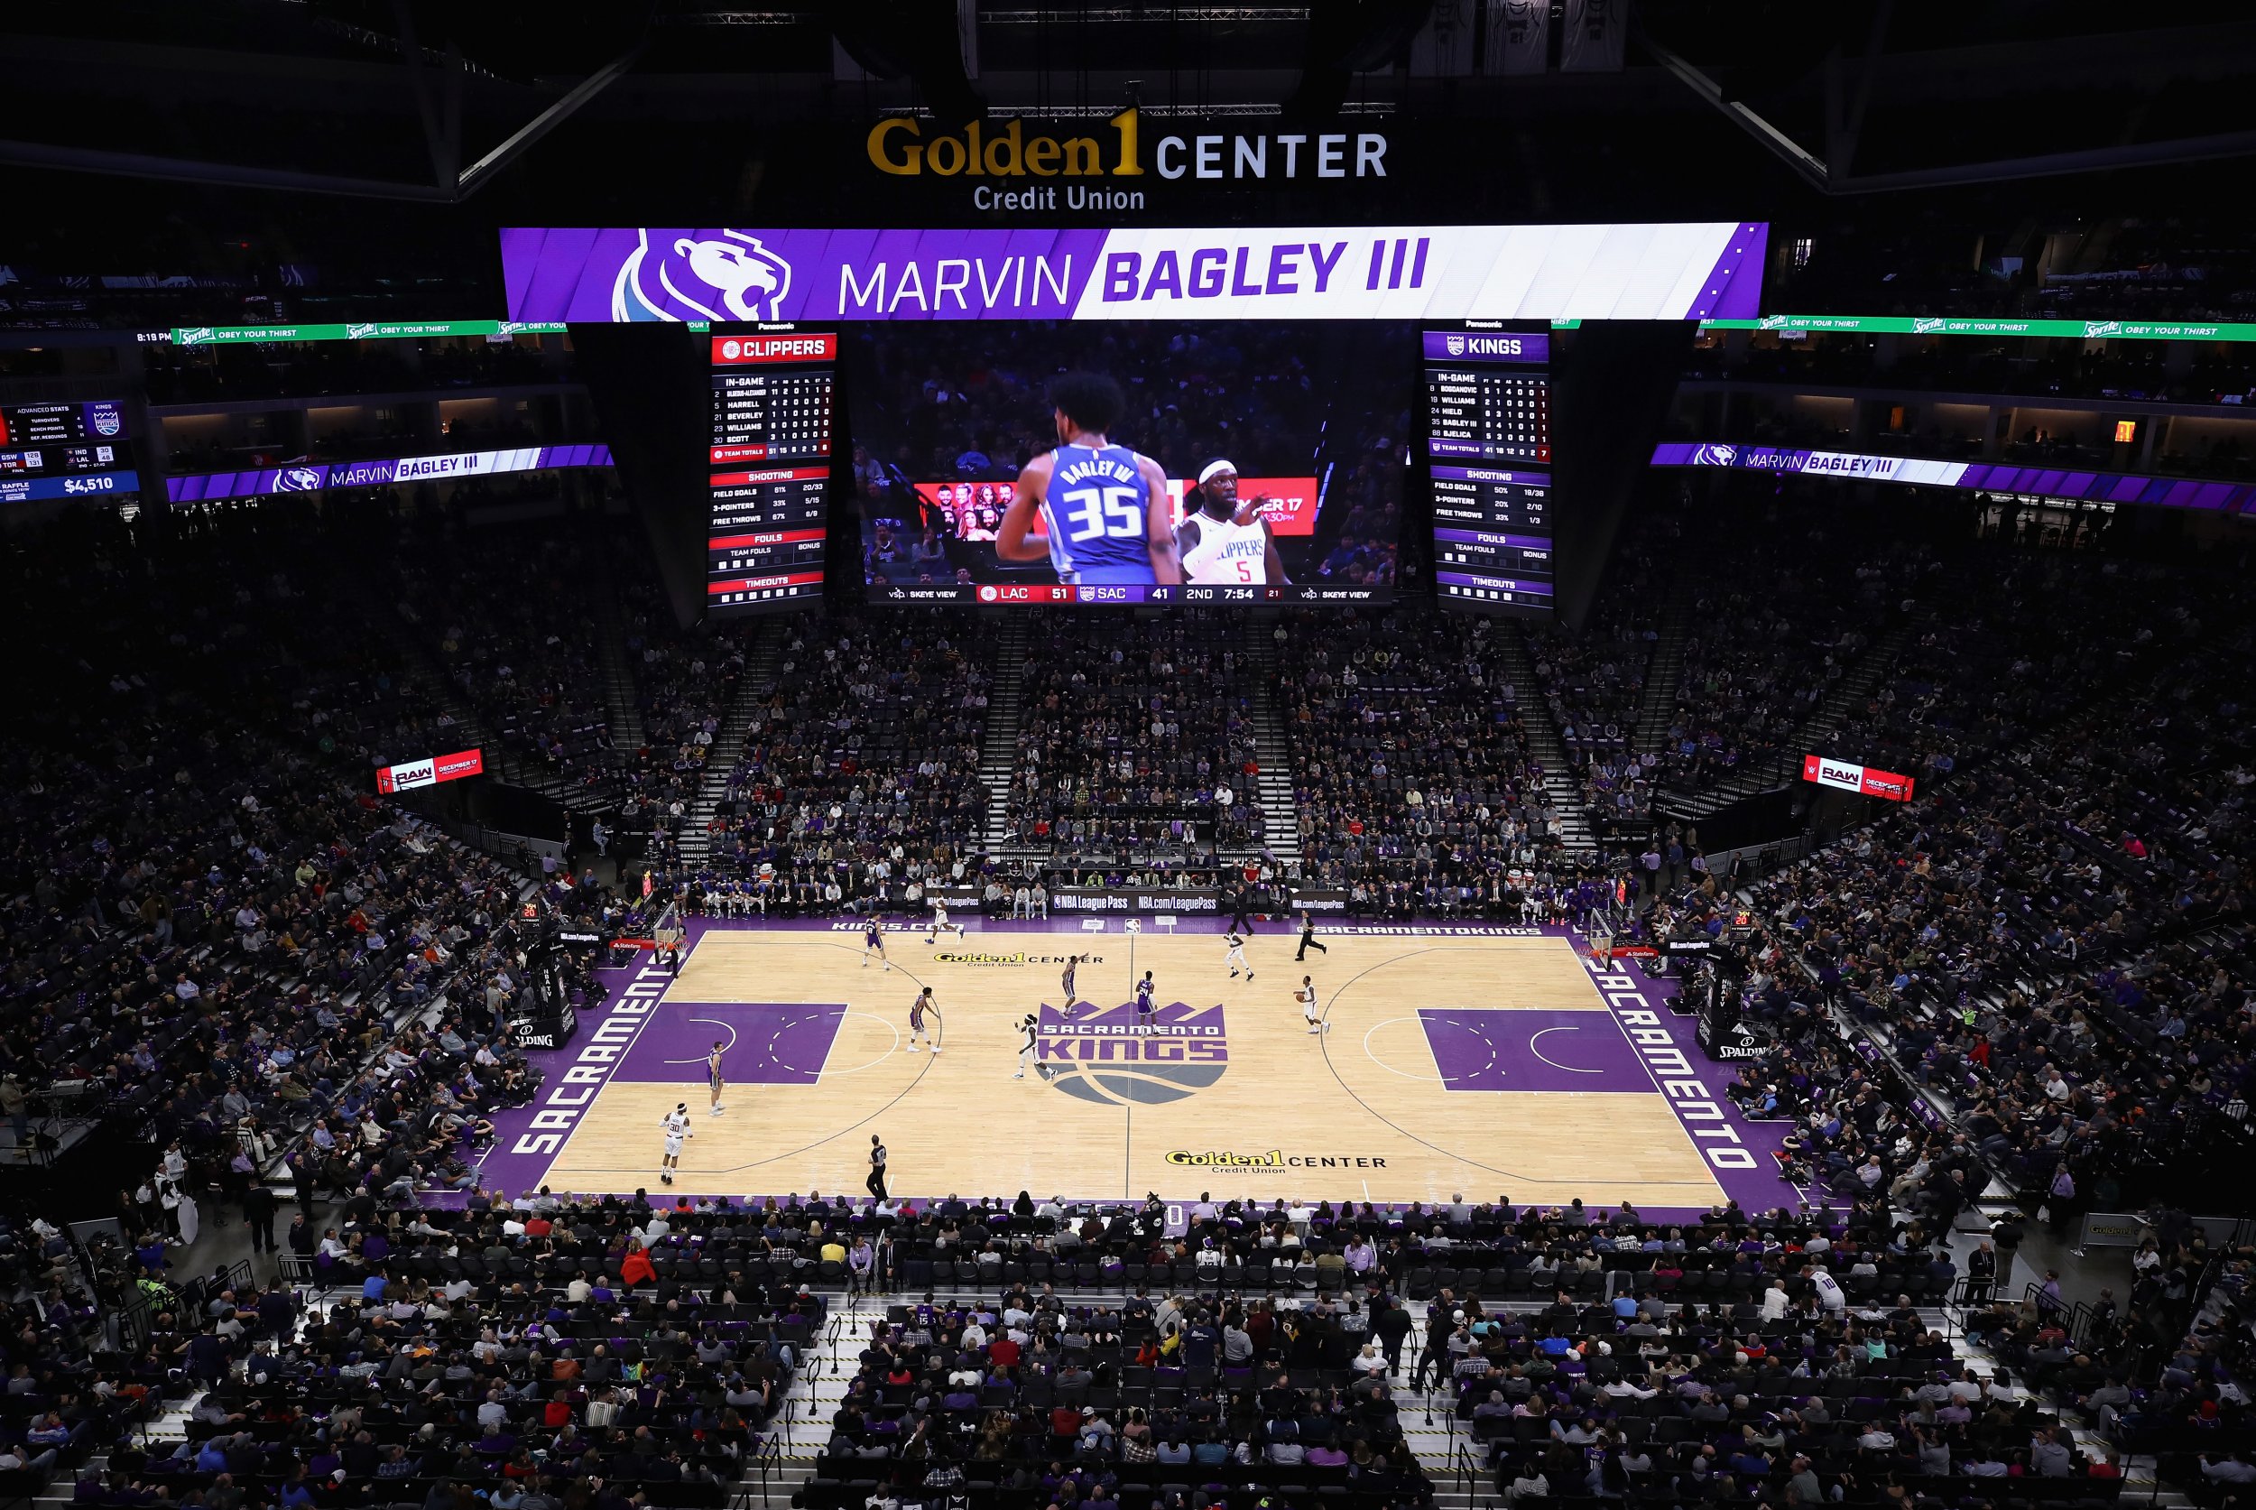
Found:
[[[2112,591],[2127,605],[2150,587]],[[1798,1113],[1852,1083],[1848,1050],[1794,1007],[1823,1002],[1891,1045],[1985,1165],[2060,1221],[2206,1167],[2218,1113],[2251,1088],[2245,634],[2204,623],[2229,582],[2177,591],[2121,639],[2107,612],[2051,618],[2046,664],[2001,634],[1999,664],[1965,684],[1981,693],[1951,704],[1972,718],[1938,720],[1906,763],[1922,799],[1746,894],[1771,950],[1748,998],[1775,1027],[1753,1090]]]

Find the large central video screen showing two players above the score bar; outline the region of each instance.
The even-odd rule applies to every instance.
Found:
[[[871,603],[1392,600],[1419,327],[844,332]]]

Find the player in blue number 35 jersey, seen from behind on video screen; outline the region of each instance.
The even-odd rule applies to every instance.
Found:
[[[1151,456],[1112,445],[1121,390],[1099,372],[1067,372],[1049,388],[1058,449],[1017,474],[1017,492],[995,533],[1006,562],[1038,562],[1045,544],[1029,539],[1042,517],[1049,564],[1060,582],[1182,582],[1175,530],[1169,526],[1166,474]]]

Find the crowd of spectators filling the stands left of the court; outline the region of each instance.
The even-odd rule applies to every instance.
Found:
[[[266,1178],[460,1178],[526,1092],[503,923],[528,878],[372,790],[433,731],[429,686],[338,591],[365,526],[72,515],[5,558],[36,670],[5,756],[0,1101],[18,1147],[113,1122],[162,1151],[126,1235],[194,1239],[205,1192]],[[562,880],[548,901],[593,905]]]

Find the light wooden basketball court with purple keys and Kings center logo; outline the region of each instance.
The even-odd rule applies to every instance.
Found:
[[[584,1047],[582,1031],[555,1054],[582,1065],[564,1077],[578,1106],[535,1115],[550,1129],[537,1138],[503,1122],[490,1183],[656,1192],[659,1122],[688,1101],[677,1194],[862,1196],[871,1133],[905,1196],[1462,1192],[1667,1210],[1742,1194],[1719,1183],[1570,937],[1324,932],[1329,952],[1297,966],[1297,934],[1279,930],[1248,943],[1254,977],[1230,980],[1218,932],[1108,923],[990,925],[936,946],[889,930],[891,971],[862,964],[860,928],[702,925],[677,980],[645,968],[634,989],[650,995],[593,1029],[609,1050]],[[1083,962],[1067,1016],[1072,952]],[[1144,971],[1157,984],[1148,1031],[1133,1007]],[[1320,1034],[1293,998],[1304,973]],[[909,1002],[927,984],[938,1052],[911,1052]],[[1038,1061],[1013,1079],[1026,1013]],[[715,1043],[729,1079],[717,1117]],[[553,1104],[557,1079],[550,1068]],[[1708,1079],[1724,1077],[1710,1065]]]

